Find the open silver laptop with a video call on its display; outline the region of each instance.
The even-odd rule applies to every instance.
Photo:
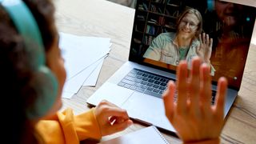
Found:
[[[252,6],[218,0],[137,0],[129,60],[86,103],[97,106],[106,99],[126,109],[135,121],[175,133],[165,115],[162,93],[169,80],[175,81],[178,61],[168,61],[173,57],[168,51],[159,52],[166,54],[162,59],[150,58],[146,51],[157,43],[155,39],[161,34],[167,35],[168,42],[172,42],[178,18],[189,8],[200,12],[202,32],[213,38],[210,57],[212,103],[218,78],[228,79],[226,117],[241,86],[256,10]],[[161,46],[160,42],[158,50],[163,49]]]

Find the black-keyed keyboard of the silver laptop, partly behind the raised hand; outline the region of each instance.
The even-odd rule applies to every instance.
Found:
[[[170,80],[175,81],[173,78],[167,78],[145,70],[138,70],[134,68],[126,74],[125,78],[122,78],[121,82],[118,83],[118,86],[162,98],[162,93],[166,90],[167,83]],[[212,90],[212,95],[215,96],[215,94],[216,92]],[[177,93],[175,92],[175,96],[176,95]],[[214,104],[214,96],[212,97],[212,104]]]

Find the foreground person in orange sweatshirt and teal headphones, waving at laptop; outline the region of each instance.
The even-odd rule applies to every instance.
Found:
[[[74,115],[71,109],[58,112],[62,106],[61,95],[66,70],[58,48],[54,6],[50,0],[0,0],[0,47],[2,102],[8,102],[10,107],[6,110],[4,109],[6,107],[2,108],[2,115],[5,116],[2,118],[3,130],[5,130],[3,138],[8,142],[79,143],[86,138],[100,139],[102,136],[114,134],[133,123],[126,110],[106,101],[100,102],[95,108],[79,115]],[[185,69],[184,66],[186,62],[180,66],[179,74],[181,75],[186,74],[182,72]],[[198,69],[199,65],[193,66]],[[205,79],[209,70],[207,71],[206,66],[204,67],[201,70],[203,71],[201,75],[204,77],[200,79],[200,82],[206,84],[206,90],[200,94],[209,96],[210,89],[207,86],[210,80]],[[178,92],[181,90],[179,87],[198,85],[199,71],[196,69],[193,75],[197,80],[193,77],[193,82],[186,83],[185,77],[179,78]],[[222,79],[220,93],[218,93],[218,98],[222,100],[226,90],[225,82],[225,79]],[[183,88],[182,90],[186,90]],[[195,90],[192,91],[197,92],[195,96],[198,98],[199,88],[196,86],[193,88]],[[202,88],[204,87],[200,90],[203,90]],[[177,128],[180,138],[184,142],[218,139],[222,128],[222,101],[218,100],[216,110],[213,111],[211,108],[208,111],[214,114],[213,118],[218,116],[217,120],[220,120],[220,123],[213,120],[218,127],[213,127],[211,131],[216,129],[216,133],[209,132],[201,136],[200,131],[191,131],[187,127],[181,128],[182,125],[176,122],[178,118],[190,118],[191,115],[180,113],[179,109],[176,111],[176,106],[172,101],[173,90],[174,84],[170,82],[164,102],[166,115]],[[193,98],[190,97],[190,99],[192,107]],[[177,107],[182,107],[179,103],[178,100]],[[210,107],[210,104],[207,106]],[[184,117],[179,117],[179,114]],[[203,128],[210,128],[207,123],[210,119],[203,118],[203,116],[199,117],[199,120],[202,118],[202,123],[206,122]],[[202,123],[196,123],[198,130],[202,128]],[[184,130],[187,130],[187,134],[182,132]],[[190,134],[194,132],[198,133]],[[191,136],[187,137],[188,135]]]

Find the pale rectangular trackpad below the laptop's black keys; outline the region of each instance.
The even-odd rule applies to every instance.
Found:
[[[162,98],[134,92],[134,94],[122,104],[122,108],[127,110],[130,118],[135,118],[147,124],[174,131],[174,128],[166,118]]]

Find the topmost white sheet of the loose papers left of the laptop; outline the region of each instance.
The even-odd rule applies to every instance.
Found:
[[[60,33],[60,48],[65,59],[67,80],[97,62],[110,51],[110,38],[82,37]]]

